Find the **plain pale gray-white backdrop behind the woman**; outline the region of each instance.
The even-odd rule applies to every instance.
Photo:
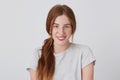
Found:
[[[96,56],[95,80],[120,79],[119,0],[0,1],[0,80],[29,80],[29,56],[48,34],[45,20],[54,4],[67,4],[76,15],[74,42]]]

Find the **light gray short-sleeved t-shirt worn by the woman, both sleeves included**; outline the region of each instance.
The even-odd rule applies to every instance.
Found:
[[[38,59],[40,58],[40,49],[33,53],[30,68],[36,70]],[[81,80],[81,69],[91,62],[95,62],[95,57],[91,49],[82,44],[71,43],[70,47],[62,53],[55,56],[55,74],[53,80]]]

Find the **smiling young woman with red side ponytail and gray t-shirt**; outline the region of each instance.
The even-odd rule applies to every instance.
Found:
[[[76,30],[75,15],[67,5],[55,5],[48,13],[50,37],[33,54],[31,80],[93,80],[95,58],[91,49],[70,42]]]

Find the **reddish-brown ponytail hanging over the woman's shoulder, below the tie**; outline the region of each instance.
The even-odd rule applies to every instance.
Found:
[[[51,37],[44,41],[41,53],[37,67],[38,80],[52,80],[55,71],[55,58],[53,55],[53,39]]]

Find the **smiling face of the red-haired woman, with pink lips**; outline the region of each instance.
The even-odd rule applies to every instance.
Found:
[[[58,16],[53,24],[52,38],[54,45],[63,46],[69,44],[69,38],[72,34],[72,27],[67,16]]]

